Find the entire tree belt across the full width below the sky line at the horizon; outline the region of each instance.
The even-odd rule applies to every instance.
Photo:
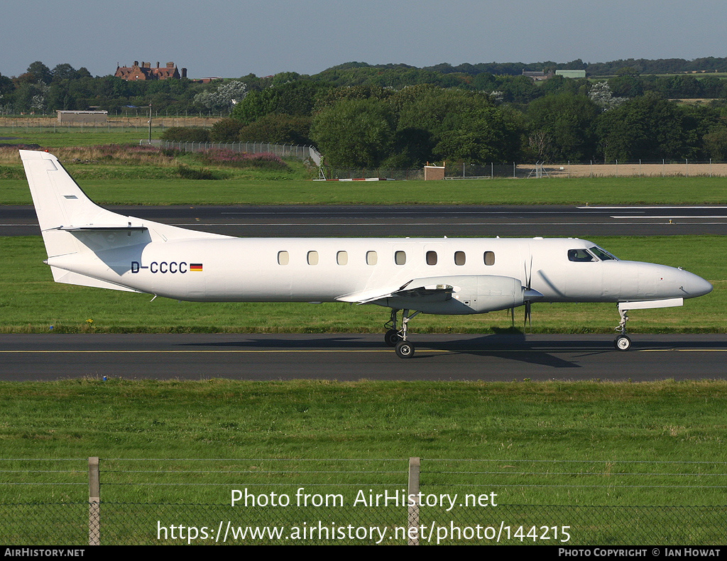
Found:
[[[21,76],[0,76],[0,108],[113,113],[152,103],[162,114],[214,111],[229,118],[204,132],[211,140],[315,144],[336,167],[727,159],[727,81],[716,76],[652,76],[624,66],[603,80],[536,82],[462,66],[347,63],[313,76],[199,84],[127,82],[36,62]]]

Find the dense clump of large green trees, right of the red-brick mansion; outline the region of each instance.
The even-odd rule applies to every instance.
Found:
[[[628,68],[607,81],[513,82],[519,98],[504,88],[336,87],[298,77],[249,92],[212,135],[312,143],[335,167],[727,159],[727,96],[676,103]]]

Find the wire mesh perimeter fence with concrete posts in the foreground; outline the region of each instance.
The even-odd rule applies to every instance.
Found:
[[[2,458],[0,542],[719,545],[726,466]]]

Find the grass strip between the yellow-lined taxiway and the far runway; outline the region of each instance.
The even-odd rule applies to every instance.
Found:
[[[680,308],[630,313],[633,333],[725,333],[727,278],[713,259],[723,247],[721,236],[650,236],[647,239],[593,238],[616,256],[683,266],[712,283],[709,295],[686,301]],[[238,333],[378,333],[388,319],[379,306],[344,303],[193,303],[57,284],[44,265],[41,238],[0,238],[0,332],[55,333],[94,331],[238,332]],[[516,310],[518,328],[522,309]],[[91,319],[92,322],[87,320]],[[614,304],[533,305],[534,333],[611,333],[619,316]],[[507,311],[474,316],[417,317],[414,333],[492,333],[510,327]]]

